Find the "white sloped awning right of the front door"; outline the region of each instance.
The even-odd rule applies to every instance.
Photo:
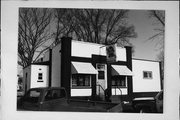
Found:
[[[133,76],[133,73],[125,65],[112,65],[112,75]]]

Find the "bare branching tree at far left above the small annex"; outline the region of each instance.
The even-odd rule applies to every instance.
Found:
[[[50,9],[20,8],[18,33],[18,64],[26,67],[48,49]]]

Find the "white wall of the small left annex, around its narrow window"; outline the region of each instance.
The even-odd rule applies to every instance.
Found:
[[[42,81],[38,82],[38,74],[42,73]],[[46,65],[31,65],[31,84],[30,88],[47,87],[48,86],[48,66]]]

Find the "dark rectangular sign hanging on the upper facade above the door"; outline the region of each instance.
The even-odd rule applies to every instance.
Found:
[[[107,62],[115,62],[116,61],[116,45],[108,45],[106,47],[106,58]]]

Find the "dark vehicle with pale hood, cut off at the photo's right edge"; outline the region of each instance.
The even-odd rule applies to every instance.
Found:
[[[155,97],[134,98],[132,107],[140,113],[163,113],[163,91]]]

